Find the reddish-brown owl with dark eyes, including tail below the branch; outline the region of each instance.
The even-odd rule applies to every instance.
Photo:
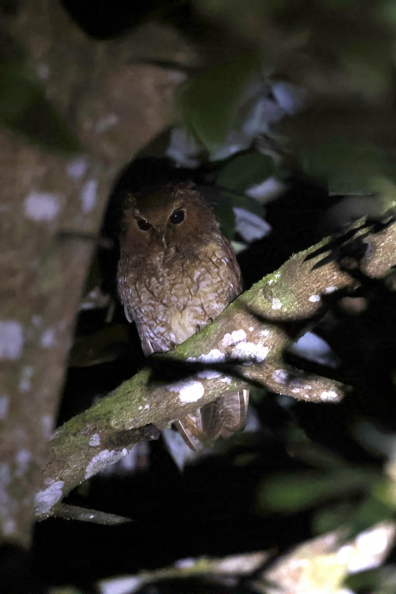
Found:
[[[232,247],[192,184],[128,195],[118,290],[145,355],[166,352],[214,320],[242,290]],[[242,431],[249,391],[220,396],[176,426],[192,450]]]

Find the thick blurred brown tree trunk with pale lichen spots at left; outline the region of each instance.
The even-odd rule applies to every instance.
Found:
[[[27,103],[36,71],[46,100],[81,146],[73,156],[52,154],[0,130],[0,541],[27,546],[75,313],[110,188],[175,115],[173,93],[182,75],[137,61],[179,56],[189,62],[191,52],[169,26],[146,24],[122,42],[98,42],[72,22],[61,2],[15,7],[1,17],[4,47],[9,36],[29,64],[19,89],[19,62],[4,62],[5,72],[15,72],[5,84],[4,106],[15,97],[17,106]],[[23,115],[49,146],[53,130],[46,114],[52,111],[37,103],[36,92],[30,100],[15,124]]]

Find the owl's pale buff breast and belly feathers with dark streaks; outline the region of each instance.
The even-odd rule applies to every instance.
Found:
[[[137,324],[145,355],[166,352],[239,295],[240,271],[229,243],[219,236],[218,242],[185,257],[169,251],[136,267],[121,258],[119,292],[126,317]]]

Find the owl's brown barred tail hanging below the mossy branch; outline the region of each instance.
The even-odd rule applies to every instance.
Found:
[[[202,406],[182,421],[175,421],[175,426],[186,444],[199,451],[213,445],[219,437],[227,438],[243,431],[248,405],[249,390],[232,392]]]

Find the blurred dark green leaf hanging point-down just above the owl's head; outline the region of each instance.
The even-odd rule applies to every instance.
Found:
[[[223,142],[237,123],[243,91],[258,70],[261,56],[249,53],[192,78],[180,93],[187,127],[209,150]]]

